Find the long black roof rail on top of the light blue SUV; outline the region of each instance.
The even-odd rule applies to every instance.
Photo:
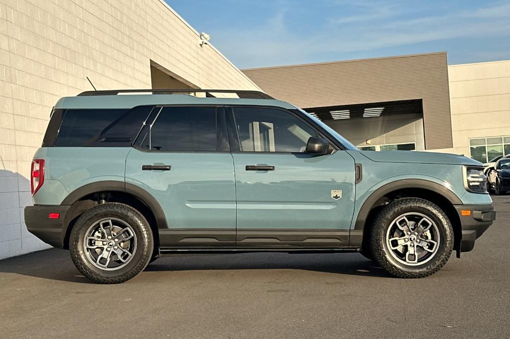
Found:
[[[211,93],[235,93],[241,99],[274,99],[260,91],[245,90],[196,90],[196,89],[157,89],[157,90],[106,90],[106,91],[86,91],[78,96],[93,95],[117,95],[119,93],[152,93],[152,94],[174,94],[174,93],[206,93],[207,97],[214,98]]]

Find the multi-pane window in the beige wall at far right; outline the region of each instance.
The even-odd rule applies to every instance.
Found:
[[[510,136],[469,139],[469,154],[480,162],[493,162],[510,154]]]

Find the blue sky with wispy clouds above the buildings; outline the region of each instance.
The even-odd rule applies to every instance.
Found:
[[[239,68],[448,52],[510,59],[510,0],[166,0]]]

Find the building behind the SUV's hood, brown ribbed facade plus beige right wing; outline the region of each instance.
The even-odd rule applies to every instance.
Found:
[[[364,150],[510,154],[510,61],[448,66],[437,52],[243,71]]]

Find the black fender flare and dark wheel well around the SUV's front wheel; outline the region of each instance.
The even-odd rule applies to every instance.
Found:
[[[424,179],[397,180],[376,189],[363,203],[354,223],[354,234],[362,233],[358,237],[361,249],[368,248],[370,241],[371,223],[386,202],[399,199],[399,197],[419,197],[436,204],[445,212],[450,220],[454,235],[454,249],[457,256],[460,254],[462,240],[461,220],[453,205],[461,205],[461,199],[450,189],[436,182]],[[361,239],[360,239],[361,238]],[[354,244],[355,245],[355,244]]]

